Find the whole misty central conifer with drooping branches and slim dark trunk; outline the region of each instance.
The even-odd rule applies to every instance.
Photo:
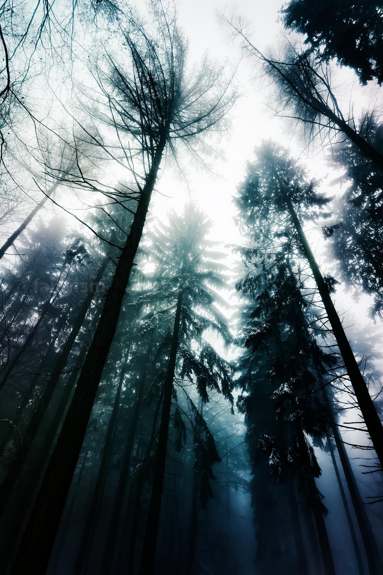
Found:
[[[211,242],[206,239],[208,229],[209,224],[203,214],[193,206],[188,206],[181,217],[173,213],[170,225],[162,225],[151,238],[151,253],[154,254],[158,266],[155,276],[156,293],[160,294],[163,305],[173,310],[175,308],[175,313],[163,384],[150,507],[141,556],[140,573],[145,575],[150,575],[154,570],[171,405],[172,398],[177,397],[173,388],[177,358],[181,362],[179,377],[195,382],[202,401],[208,401],[208,389],[223,393],[232,401],[231,370],[205,339],[206,331],[212,331],[223,338],[226,344],[232,340],[226,322],[215,305],[220,301],[215,290],[225,286],[221,272],[224,267],[220,263],[223,255],[212,251],[211,247],[209,250]],[[194,351],[196,345],[198,351]],[[209,490],[204,494],[204,484],[206,479],[209,479],[213,463],[219,461],[219,456],[212,435],[206,424],[202,423],[198,409],[190,398],[188,401],[196,421],[196,450],[200,451],[196,457],[195,469],[198,472],[200,466],[205,467],[206,464],[208,469],[210,468],[200,489],[200,497],[205,503]],[[205,465],[201,462],[203,457],[206,459]],[[202,469],[200,473],[203,477]]]

